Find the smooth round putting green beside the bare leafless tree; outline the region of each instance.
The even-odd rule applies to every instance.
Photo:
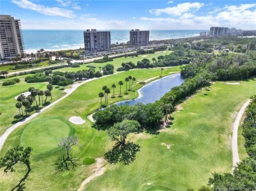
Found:
[[[68,137],[70,127],[67,122],[57,118],[35,120],[22,133],[21,145],[33,147],[35,154],[49,152],[58,148],[58,141]]]

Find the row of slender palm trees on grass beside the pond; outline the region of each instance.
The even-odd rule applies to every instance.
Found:
[[[125,90],[125,94],[127,93],[127,82],[129,82],[129,91],[132,90],[133,88],[133,82],[135,82],[136,78],[135,77],[127,77],[125,78],[125,82],[126,82],[126,90]],[[119,96],[118,97],[122,97],[121,96],[121,86],[123,86],[123,81],[119,81],[118,85],[120,86],[120,91],[119,91]],[[111,88],[113,88],[113,96],[112,98],[115,98],[115,88],[116,88],[116,84],[112,84]],[[100,97],[100,106],[102,106],[102,97],[105,98],[105,104],[104,105],[108,105],[108,94],[110,94],[110,88],[108,88],[108,86],[102,86],[102,90],[103,92],[98,93],[98,97]]]

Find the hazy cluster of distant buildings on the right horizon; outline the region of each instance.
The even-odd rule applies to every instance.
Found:
[[[211,27],[210,31],[200,32],[201,37],[223,37],[226,35],[236,35],[241,33],[242,29],[228,28],[228,27]]]

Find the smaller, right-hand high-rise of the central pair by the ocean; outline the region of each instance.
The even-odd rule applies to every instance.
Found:
[[[139,29],[132,29],[130,31],[130,44],[131,46],[148,46],[149,31],[140,31]]]

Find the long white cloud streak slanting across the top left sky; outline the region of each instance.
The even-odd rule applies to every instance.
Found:
[[[12,3],[18,5],[18,7],[21,7],[23,9],[35,10],[36,12],[40,12],[49,16],[63,16],[67,18],[75,17],[72,10],[60,9],[58,7],[48,7],[45,5],[37,5],[28,0],[12,0]]]

